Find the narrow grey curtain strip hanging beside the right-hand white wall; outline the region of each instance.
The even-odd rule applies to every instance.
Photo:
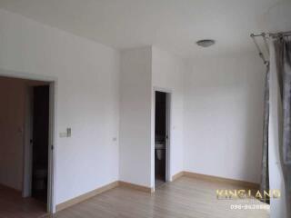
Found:
[[[269,78],[270,70],[269,64],[266,65],[266,79],[265,79],[265,99],[264,99],[264,125],[263,125],[263,159],[260,191],[269,190],[269,169],[268,169],[268,127],[269,127]],[[265,200],[268,203],[267,200]]]

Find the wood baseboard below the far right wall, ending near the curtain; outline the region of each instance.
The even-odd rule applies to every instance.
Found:
[[[246,181],[241,181],[241,180],[228,179],[228,178],[218,177],[215,175],[206,175],[206,174],[192,173],[192,172],[183,172],[183,175],[189,178],[202,179],[202,180],[212,181],[216,183],[230,183],[230,184],[241,185],[243,187],[248,187],[255,190],[258,190],[260,186],[258,183],[251,183],[251,182],[246,182]]]

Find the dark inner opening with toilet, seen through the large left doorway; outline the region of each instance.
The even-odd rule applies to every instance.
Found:
[[[47,202],[49,85],[35,86],[33,105],[32,197]]]

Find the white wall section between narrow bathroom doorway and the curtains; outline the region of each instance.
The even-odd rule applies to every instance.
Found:
[[[254,55],[193,60],[186,74],[185,170],[258,183],[264,68]]]

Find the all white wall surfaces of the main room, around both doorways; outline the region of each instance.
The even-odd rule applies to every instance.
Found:
[[[153,86],[173,91],[172,175],[259,181],[264,69],[256,54],[194,60],[183,98],[183,61],[156,47],[122,52],[120,89],[114,49],[2,9],[0,47],[1,71],[57,79],[56,131],[72,127],[72,137],[56,135],[56,203],[118,179],[153,186]]]

